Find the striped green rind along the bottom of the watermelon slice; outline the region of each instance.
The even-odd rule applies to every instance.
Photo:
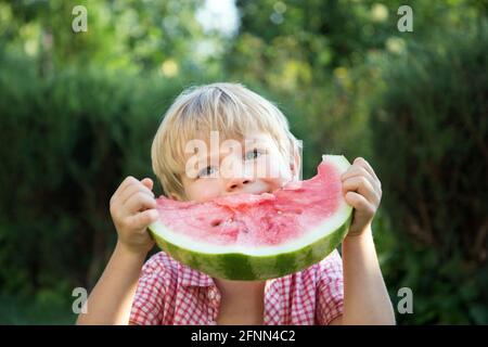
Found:
[[[323,159],[335,162],[345,171],[350,165],[344,156],[325,155]],[[162,235],[171,233],[163,223],[155,222],[149,227],[149,231],[155,243],[169,254],[174,259],[189,266],[192,269],[207,273],[213,278],[234,280],[234,281],[258,281],[281,278],[319,262],[330,255],[343,242],[349,229],[352,208],[345,202],[334,214],[338,218],[335,227],[331,230],[324,226],[313,228],[310,234],[320,233],[311,243],[296,247],[290,244],[286,247],[269,247],[269,254],[249,254],[245,252],[204,252],[204,247],[195,249],[195,245],[178,245]],[[323,230],[325,229],[325,230]],[[329,229],[329,230],[328,230]],[[194,243],[194,242],[193,242]],[[194,248],[194,249],[190,249]],[[209,249],[216,247],[208,247]],[[282,248],[282,252],[280,252]],[[275,253],[272,253],[273,249]]]

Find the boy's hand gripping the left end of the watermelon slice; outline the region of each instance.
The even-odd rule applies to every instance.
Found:
[[[158,218],[152,189],[151,179],[139,181],[129,176],[111,198],[111,215],[118,242],[134,253],[147,253],[154,246],[146,230]]]

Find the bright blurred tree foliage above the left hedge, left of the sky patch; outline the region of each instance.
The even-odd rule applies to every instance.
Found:
[[[198,68],[196,61],[202,53],[195,48],[206,38],[195,20],[202,2],[1,0],[0,41],[22,44],[44,69],[100,64],[106,68],[164,69],[175,75]],[[72,29],[76,5],[88,11],[87,33]]]

